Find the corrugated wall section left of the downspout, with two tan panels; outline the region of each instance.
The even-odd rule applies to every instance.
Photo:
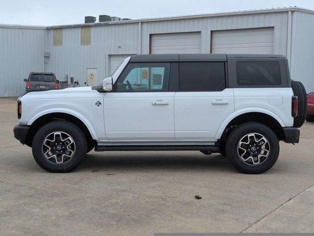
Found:
[[[100,84],[106,78],[109,55],[137,54],[137,29],[137,23],[92,27],[91,45],[80,45],[80,28],[64,28],[62,46],[52,45],[53,30],[49,29],[50,71],[60,81],[68,74],[69,78],[73,76],[80,86],[84,86],[87,68],[97,68]]]

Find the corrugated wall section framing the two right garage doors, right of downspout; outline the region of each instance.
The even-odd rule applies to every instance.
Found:
[[[286,55],[288,12],[143,22],[142,53],[149,53],[149,35],[154,33],[201,31],[201,53],[209,53],[211,30],[260,27],[274,27],[274,54]]]

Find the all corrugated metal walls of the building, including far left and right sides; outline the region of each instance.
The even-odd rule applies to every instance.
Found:
[[[314,90],[313,15],[293,11],[292,19],[291,75]],[[28,73],[45,70],[44,51],[51,53],[47,71],[84,86],[87,68],[97,68],[98,83],[110,74],[110,55],[148,54],[150,34],[199,31],[201,53],[209,53],[211,30],[262,27],[274,27],[274,54],[286,55],[288,11],[94,26],[91,45],[80,45],[79,27],[63,28],[62,46],[53,46],[53,29],[0,26],[0,96],[24,93]]]

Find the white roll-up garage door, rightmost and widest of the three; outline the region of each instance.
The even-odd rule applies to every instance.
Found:
[[[211,53],[273,54],[274,28],[212,31]]]

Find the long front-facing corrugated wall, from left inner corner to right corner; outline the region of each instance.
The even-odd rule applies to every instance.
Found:
[[[274,27],[274,54],[286,55],[288,12],[142,22],[140,33],[138,23],[95,26],[91,45],[87,46],[80,45],[80,28],[63,28],[63,46],[53,46],[53,30],[49,29],[50,70],[59,80],[68,74],[84,86],[86,68],[98,68],[97,81],[101,83],[110,74],[109,56],[148,54],[150,34],[200,31],[201,53],[209,53],[210,30],[260,27]],[[141,35],[140,45],[138,35]]]

